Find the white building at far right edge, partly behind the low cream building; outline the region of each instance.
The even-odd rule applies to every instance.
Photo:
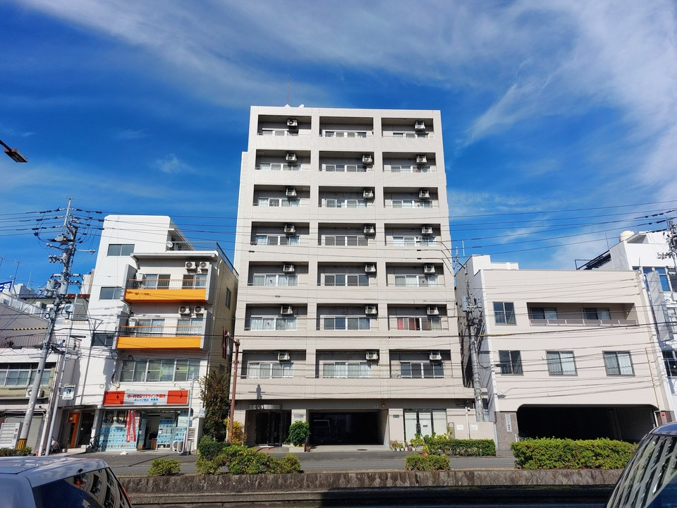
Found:
[[[623,231],[615,246],[580,270],[638,270],[645,276],[655,332],[672,394],[671,421],[677,408],[677,265],[669,255],[669,231]]]

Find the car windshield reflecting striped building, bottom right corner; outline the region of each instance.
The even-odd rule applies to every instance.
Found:
[[[606,508],[677,508],[677,436],[640,442]]]

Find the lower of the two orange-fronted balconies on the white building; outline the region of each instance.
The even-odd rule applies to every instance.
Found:
[[[203,325],[123,326],[117,349],[202,349]]]

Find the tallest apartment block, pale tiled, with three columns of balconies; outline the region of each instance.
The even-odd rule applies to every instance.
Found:
[[[450,241],[439,111],[252,107],[235,255],[250,442],[293,421],[314,443],[467,437]]]

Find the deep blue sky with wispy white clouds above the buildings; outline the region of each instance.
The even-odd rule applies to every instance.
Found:
[[[288,83],[441,110],[454,253],[569,269],[676,215],[669,0],[8,0],[0,47],[0,139],[29,159],[0,159],[0,282],[58,268],[30,227],[68,196],[231,253],[250,105]]]

